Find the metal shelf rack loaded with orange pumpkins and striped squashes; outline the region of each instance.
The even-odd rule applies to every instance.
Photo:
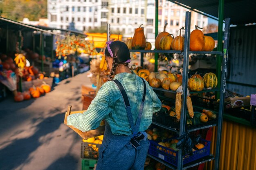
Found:
[[[173,94],[173,99],[175,99],[175,106],[170,107],[169,105],[162,105],[162,109],[170,109],[175,108],[176,112],[176,118],[177,121],[175,122],[177,124],[177,128],[173,128],[170,126],[166,126],[163,123],[157,123],[154,121],[153,118],[153,124],[156,124],[157,126],[162,126],[165,129],[169,129],[172,131],[176,131],[179,133],[179,136],[185,133],[185,131],[196,131],[198,129],[205,129],[212,126],[218,126],[218,132],[217,132],[217,138],[220,140],[220,134],[221,134],[221,126],[222,126],[222,119],[223,119],[223,101],[224,101],[224,92],[225,92],[225,82],[226,82],[226,75],[227,75],[227,48],[228,48],[228,39],[229,39],[229,23],[230,19],[225,20],[225,39],[224,39],[224,50],[223,52],[220,51],[212,51],[215,42],[211,37],[205,37],[202,31],[198,29],[198,26],[195,27],[195,30],[190,33],[190,17],[191,13],[186,12],[186,22],[185,27],[182,27],[180,29],[185,29],[185,36],[182,37],[181,33],[177,37],[173,37],[171,34],[166,33],[165,28],[164,32],[159,33],[156,37],[156,50],[151,50],[151,48],[147,48],[146,45],[146,38],[143,33],[142,28],[137,28],[135,30],[135,35],[132,39],[130,39],[130,52],[141,52],[141,67],[138,67],[139,69],[135,70],[137,74],[147,81],[149,81],[149,84],[153,87],[155,91],[157,92],[159,98],[161,100],[166,97],[166,94]],[[166,26],[165,26],[166,27]],[[162,41],[161,41],[162,40]],[[213,41],[212,41],[213,40]],[[160,42],[161,41],[161,42]],[[214,43],[214,44],[213,44]],[[205,46],[207,44],[207,46]],[[166,47],[168,45],[168,48]],[[160,47],[159,47],[160,46]],[[129,46],[128,46],[129,47]],[[177,52],[178,51],[178,52]],[[169,71],[160,71],[160,72],[149,72],[149,70],[143,68],[143,53],[146,52],[159,52],[159,53],[179,53],[183,55],[183,73],[177,74],[177,73],[171,73]],[[199,77],[198,75],[195,75],[194,77],[190,78],[188,77],[189,72],[189,54],[219,54],[222,56],[222,70],[221,70],[221,77],[219,79],[216,78],[216,75],[214,73],[207,73],[203,77]],[[157,60],[157,57],[155,58]],[[157,67],[157,64],[155,64],[155,67]],[[156,69],[155,69],[156,70]],[[135,73],[136,73],[135,72]],[[178,80],[180,79],[180,81]],[[220,86],[217,87],[217,82],[220,81]],[[177,92],[178,87],[182,87],[181,92]],[[217,87],[217,88],[216,88]],[[209,89],[210,88],[210,89]],[[188,93],[189,89],[189,93]],[[183,92],[183,94],[182,94]],[[206,112],[204,114],[202,113],[196,113],[197,108],[192,107],[191,100],[189,97],[189,94],[193,93],[204,93],[204,92],[220,92],[220,107],[217,112],[213,112],[210,110],[201,109],[201,112],[203,110]],[[161,96],[160,94],[164,94],[164,96]],[[186,94],[186,95],[184,95]],[[167,96],[168,96],[167,95]],[[177,97],[178,96],[178,97]],[[168,98],[168,97],[167,97]],[[178,101],[178,102],[177,102]],[[177,104],[178,103],[178,111],[177,111]],[[188,104],[189,103],[189,104]],[[188,107],[188,111],[186,111],[186,108]],[[194,111],[193,111],[194,109]],[[170,110],[168,110],[170,111]],[[187,114],[187,112],[189,114]],[[170,114],[175,115],[172,111],[168,112]],[[192,116],[191,113],[194,113],[194,117],[200,115],[200,118],[202,121],[205,121],[205,124],[200,124],[198,127],[194,127],[192,129],[188,130],[187,124],[189,118],[187,115]],[[208,115],[209,114],[209,115]],[[217,116],[218,115],[218,116]],[[159,115],[158,115],[159,116]],[[169,115],[167,115],[169,116]],[[191,118],[193,118],[193,116]],[[171,115],[169,116],[171,117]],[[215,119],[212,122],[208,122],[208,118]],[[159,116],[161,118],[161,116]],[[166,119],[162,118],[162,121]],[[169,122],[170,123],[170,122]],[[204,157],[204,161],[211,161],[212,159],[215,159],[219,157],[219,148],[220,143],[216,143],[216,154],[215,157],[213,155],[210,155],[210,157]],[[173,169],[184,169],[186,165],[183,163],[182,159],[182,150],[179,150],[179,155],[175,159],[177,159],[177,165],[173,166],[169,163],[166,163],[166,166]],[[149,155],[150,157],[152,155]],[[153,159],[156,159],[158,161],[161,161],[162,157],[155,157],[152,156]],[[200,162],[202,163],[202,162]],[[199,163],[198,163],[199,164]],[[195,161],[192,162],[191,167],[195,166]]]

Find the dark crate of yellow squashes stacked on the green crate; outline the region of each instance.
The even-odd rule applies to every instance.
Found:
[[[100,146],[101,144],[81,142],[81,158],[98,160]]]

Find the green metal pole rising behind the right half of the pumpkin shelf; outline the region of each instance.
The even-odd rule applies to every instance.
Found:
[[[217,51],[222,51],[222,34],[223,34],[223,20],[224,20],[224,0],[219,0],[219,23],[218,23],[218,45],[217,45]],[[222,63],[222,57],[220,55],[217,55],[217,63],[216,63],[216,75],[218,80],[221,79],[221,63]],[[220,81],[218,81],[217,88],[220,88]],[[220,97],[220,93],[217,93],[217,98]]]

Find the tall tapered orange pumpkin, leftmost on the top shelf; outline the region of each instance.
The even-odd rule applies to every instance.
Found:
[[[135,29],[135,33],[132,38],[132,49],[135,50],[144,50],[144,48],[146,47],[146,37],[144,35],[143,28],[141,28],[141,25],[139,26],[139,28]]]

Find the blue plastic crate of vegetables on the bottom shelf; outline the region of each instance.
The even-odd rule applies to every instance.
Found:
[[[150,142],[150,146],[148,148],[148,153],[150,155],[153,155],[154,157],[158,157],[168,163],[171,163],[174,166],[177,166],[178,151],[161,146],[153,140],[149,140],[149,142]],[[183,164],[186,164],[186,163],[189,163],[189,162],[195,161],[197,159],[200,159],[202,157],[210,155],[211,142],[207,141],[205,139],[200,139],[200,143],[204,144],[204,148],[202,148],[200,150],[195,150],[193,152],[193,155],[188,155],[188,154],[184,155],[183,156]],[[159,150],[157,147],[158,148],[160,147],[163,149]]]

